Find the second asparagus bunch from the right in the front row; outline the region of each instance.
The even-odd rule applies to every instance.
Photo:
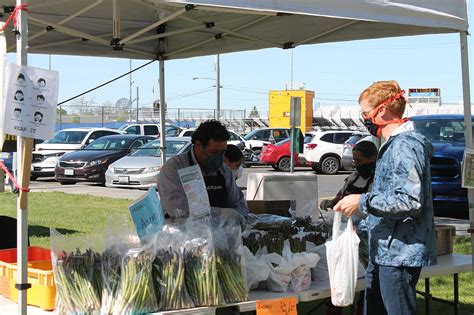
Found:
[[[208,240],[188,242],[184,253],[185,282],[195,306],[219,305],[216,257]]]

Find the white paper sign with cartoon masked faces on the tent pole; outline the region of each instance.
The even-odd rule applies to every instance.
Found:
[[[58,72],[9,64],[5,78],[4,132],[43,140],[51,138],[56,125]]]

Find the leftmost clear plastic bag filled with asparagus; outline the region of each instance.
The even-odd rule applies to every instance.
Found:
[[[50,235],[58,312],[98,314],[102,293],[100,239],[65,236],[53,228]]]

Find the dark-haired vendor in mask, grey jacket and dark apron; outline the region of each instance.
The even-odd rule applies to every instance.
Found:
[[[214,217],[247,217],[248,208],[244,195],[229,167],[224,164],[224,153],[229,140],[226,127],[217,120],[199,125],[192,135],[192,149],[165,162],[158,176],[161,203],[172,217],[189,215],[188,200],[178,175],[178,170],[199,165],[206,183],[211,214]]]

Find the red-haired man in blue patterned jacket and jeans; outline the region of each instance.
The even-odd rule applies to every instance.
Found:
[[[416,283],[436,263],[430,158],[433,146],[402,119],[406,99],[396,81],[379,81],[359,97],[364,125],[386,143],[372,191],[344,197],[334,207],[367,214],[369,265],[365,314],[416,314]]]

